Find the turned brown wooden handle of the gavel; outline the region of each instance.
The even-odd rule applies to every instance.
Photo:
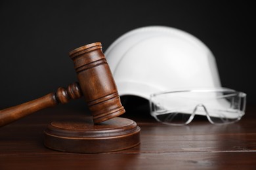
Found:
[[[68,103],[70,99],[78,99],[81,96],[82,93],[77,82],[70,84],[67,90],[60,87],[56,93],[49,93],[39,99],[0,110],[0,127],[10,124],[15,120],[19,120],[24,116],[28,116],[38,110],[53,107],[58,105],[58,103]]]

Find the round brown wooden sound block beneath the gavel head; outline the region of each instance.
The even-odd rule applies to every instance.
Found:
[[[119,117],[100,124],[93,124],[89,117],[51,122],[44,134],[45,146],[62,152],[114,152],[140,143],[140,127],[136,122]]]

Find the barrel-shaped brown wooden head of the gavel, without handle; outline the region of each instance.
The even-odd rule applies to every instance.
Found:
[[[69,54],[74,61],[81,92],[93,114],[93,122],[104,122],[123,114],[125,109],[121,105],[101,43],[81,46]]]

